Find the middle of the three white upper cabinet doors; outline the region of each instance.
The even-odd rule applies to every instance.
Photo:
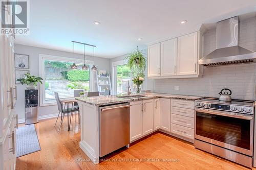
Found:
[[[177,38],[161,42],[161,76],[177,75]]]

